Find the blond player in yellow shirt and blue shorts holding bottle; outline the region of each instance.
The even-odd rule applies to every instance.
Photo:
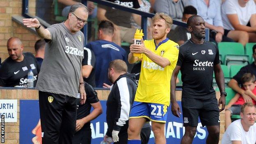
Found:
[[[172,19],[167,14],[153,17],[153,39],[132,44],[128,62],[142,61],[139,84],[130,112],[128,144],[140,144],[140,130],[151,121],[156,144],[165,144],[165,123],[170,103],[171,73],[178,60],[178,44],[167,38]],[[134,57],[133,53],[140,53]],[[175,85],[175,84],[174,84]]]

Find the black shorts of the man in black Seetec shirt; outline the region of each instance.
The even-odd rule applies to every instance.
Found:
[[[202,126],[219,126],[219,107],[215,97],[181,98],[183,126],[197,126],[198,117]]]

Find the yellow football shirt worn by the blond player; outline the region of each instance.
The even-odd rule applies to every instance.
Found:
[[[170,61],[170,65],[162,68],[145,54],[139,57],[142,58],[142,66],[135,101],[169,106],[171,74],[178,60],[178,44],[165,39],[158,46],[155,46],[155,42],[152,39],[145,40],[144,45],[156,55],[167,58]]]

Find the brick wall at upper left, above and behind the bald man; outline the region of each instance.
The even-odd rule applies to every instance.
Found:
[[[29,0],[29,10],[35,15],[36,0]],[[21,16],[22,0],[0,0],[0,57],[2,62],[9,57],[6,43],[10,37],[19,37],[25,46],[24,52],[34,52],[34,43],[39,37],[11,20],[11,16]]]

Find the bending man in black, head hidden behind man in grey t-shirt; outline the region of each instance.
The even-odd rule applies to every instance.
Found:
[[[85,82],[86,101],[80,104],[80,98],[77,98],[77,117],[75,135],[72,144],[91,144],[90,121],[96,119],[102,113],[101,103],[98,100],[96,91]],[[91,111],[91,106],[94,110]]]

